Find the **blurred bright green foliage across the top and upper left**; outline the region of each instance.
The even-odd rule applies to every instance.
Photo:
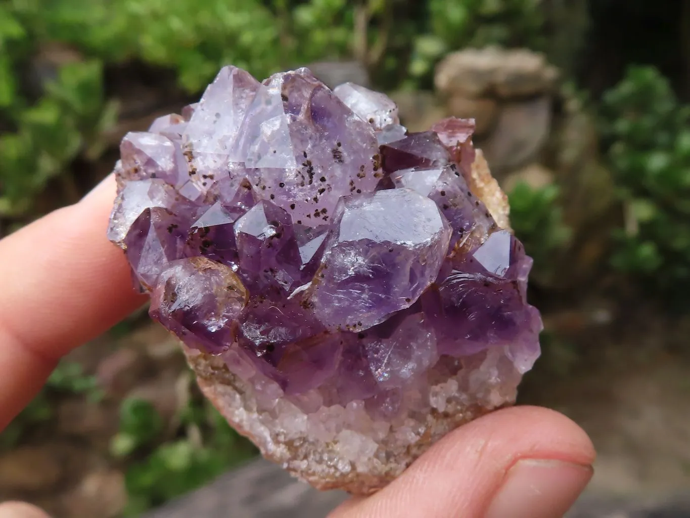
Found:
[[[54,178],[66,202],[78,199],[70,163],[97,159],[101,136],[117,120],[103,81],[109,67],[172,70],[177,86],[196,95],[224,64],[266,77],[355,58],[380,86],[430,86],[435,62],[449,50],[541,48],[539,3],[0,0],[0,217],[26,215]],[[41,52],[55,46],[70,57],[43,63]]]

